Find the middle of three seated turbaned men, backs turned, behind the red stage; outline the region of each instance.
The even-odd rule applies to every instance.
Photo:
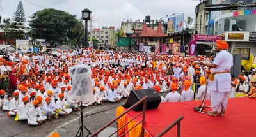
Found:
[[[194,100],[194,92],[189,87],[191,86],[191,81],[186,80],[184,82],[185,89],[181,92],[181,101],[193,101]]]

